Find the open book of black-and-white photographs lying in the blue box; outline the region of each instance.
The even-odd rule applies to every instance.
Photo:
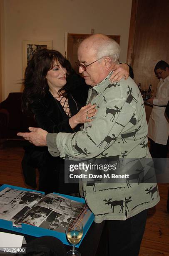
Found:
[[[0,191],[0,219],[65,233],[70,221],[86,218],[87,205],[67,197],[6,187]]]

